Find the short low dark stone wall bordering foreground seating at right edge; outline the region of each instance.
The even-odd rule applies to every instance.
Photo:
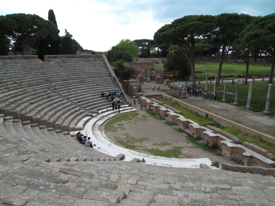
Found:
[[[231,165],[227,163],[222,163],[222,169],[234,172],[247,172],[252,174],[271,175],[275,177],[275,168],[248,167],[242,165]]]

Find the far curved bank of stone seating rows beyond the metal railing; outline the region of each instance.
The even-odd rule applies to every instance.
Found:
[[[119,88],[101,58],[2,60],[0,76],[0,107],[71,128],[110,106],[101,91]]]

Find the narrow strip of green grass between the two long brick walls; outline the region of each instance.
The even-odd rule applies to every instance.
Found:
[[[194,113],[191,110],[183,108],[178,103],[168,101],[167,99],[163,99],[161,101],[165,104],[170,105],[171,107],[174,107],[177,110],[180,110],[182,112],[182,115],[184,117],[186,117],[187,119],[190,119],[195,122],[200,122],[201,126],[212,125],[214,127],[220,128],[225,132],[228,132],[234,136],[237,136],[242,141],[242,143],[250,142],[252,144],[255,144],[255,145],[269,151],[271,154],[275,154],[275,147],[272,144],[263,141],[261,138],[249,136],[248,134],[246,134],[236,128],[233,128],[233,127],[226,127],[226,128],[222,127],[216,121],[206,118],[206,117],[203,117],[203,116],[200,116],[199,114]]]

